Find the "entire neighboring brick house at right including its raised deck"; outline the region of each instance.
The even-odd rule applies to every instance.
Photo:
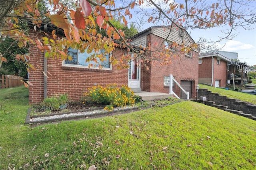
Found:
[[[250,67],[246,63],[231,61],[231,59],[235,59],[235,56],[237,57],[237,53],[222,53],[229,54],[228,57],[231,59],[220,53],[221,51],[215,54],[199,55],[198,82],[213,87],[226,87],[227,84],[233,84],[233,73],[235,83],[246,83]],[[233,58],[231,54],[233,54]]]

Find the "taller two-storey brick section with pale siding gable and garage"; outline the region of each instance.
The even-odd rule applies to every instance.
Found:
[[[149,70],[141,67],[140,80],[138,84],[134,83],[137,85],[134,88],[141,88],[146,92],[169,93],[169,75],[172,74],[184,90],[189,92],[189,98],[195,98],[198,84],[198,51],[191,50],[189,53],[180,51],[182,44],[184,47],[189,47],[195,43],[184,29],[173,27],[171,31],[166,27],[150,27],[136,34],[131,44],[139,47],[151,44],[154,51],[164,49],[173,42],[178,46],[173,49],[173,53],[177,56],[170,59],[172,62],[161,66],[149,62],[147,65]]]

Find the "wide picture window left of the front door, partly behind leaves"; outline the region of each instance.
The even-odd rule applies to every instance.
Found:
[[[78,49],[72,49],[71,47],[68,48],[68,55],[70,55],[72,57],[72,60],[66,60],[64,61],[64,64],[72,64],[72,65],[77,65],[80,67],[88,67],[89,64],[92,64],[92,68],[98,68],[99,63],[102,66],[103,69],[110,69],[110,63],[109,63],[109,54],[108,55],[104,55],[104,58],[106,60],[104,61],[100,61],[99,58],[97,58],[97,55],[102,55],[104,53],[104,49],[103,50],[99,50],[97,52],[92,52],[92,53],[87,53],[87,50],[85,50],[84,53],[80,53],[80,51]],[[95,59],[97,61],[90,61],[90,62],[86,62],[86,59],[88,59],[88,57],[91,57],[92,55],[95,55]],[[97,63],[97,64],[96,64]],[[96,66],[96,67],[95,67]]]

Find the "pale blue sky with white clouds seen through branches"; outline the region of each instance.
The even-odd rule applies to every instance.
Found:
[[[155,0],[156,2],[159,0]],[[181,0],[178,0],[181,1]],[[212,0],[211,2],[213,2]],[[256,12],[256,1],[248,0],[249,7]],[[132,13],[132,11],[131,11]],[[140,16],[136,16],[136,13],[132,13],[133,17],[128,20],[131,23],[133,20],[139,20]],[[140,31],[147,29],[150,26],[155,26],[153,23],[147,23],[140,25]],[[226,25],[221,29],[226,29],[229,26]],[[242,27],[238,27],[233,30],[234,38],[231,40],[222,40],[216,45],[220,48],[220,51],[229,51],[238,53],[238,59],[240,62],[246,62],[248,65],[256,65],[256,23],[251,25],[250,30],[245,30]],[[222,35],[220,28],[193,29],[190,33],[192,39],[197,41],[200,37],[204,37],[206,40],[218,39],[218,36]],[[222,35],[223,36],[223,35]]]

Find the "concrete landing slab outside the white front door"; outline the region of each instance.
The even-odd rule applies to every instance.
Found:
[[[141,100],[156,100],[156,99],[173,97],[173,94],[166,94],[166,93],[159,93],[159,92],[139,92],[134,94],[140,96]]]

